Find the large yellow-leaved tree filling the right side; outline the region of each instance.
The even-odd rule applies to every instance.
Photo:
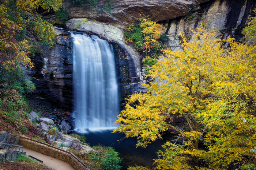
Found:
[[[166,50],[152,67],[148,92],[127,99],[114,132],[137,137],[137,146],[146,147],[163,131],[178,131],[183,142],[167,141],[156,169],[253,169],[256,48],[217,39],[202,25],[191,31],[191,40],[181,35],[182,51]],[[189,130],[168,123],[172,114],[184,117]]]

